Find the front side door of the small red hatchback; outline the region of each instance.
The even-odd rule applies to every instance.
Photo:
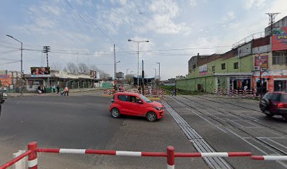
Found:
[[[144,101],[141,101],[142,104],[139,103],[139,99],[136,96],[130,96],[129,102],[129,114],[136,116],[145,116],[144,115]]]

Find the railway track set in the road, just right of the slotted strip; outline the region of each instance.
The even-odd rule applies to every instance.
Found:
[[[210,106],[210,104],[208,104],[208,102],[206,101],[194,101],[192,99],[189,99],[186,96],[170,96],[170,98],[176,101],[181,106],[184,106],[188,110],[193,111],[193,113],[196,113],[196,115],[198,115],[200,118],[203,118],[203,120],[219,128],[219,130],[222,130],[224,132],[230,132],[231,134],[236,135],[236,137],[239,137],[244,142],[247,142],[251,146],[255,147],[255,149],[257,149],[258,151],[261,151],[263,154],[287,155],[287,146],[284,146],[274,141],[273,137],[267,137],[267,135],[264,135],[264,133],[262,134],[256,130],[250,132],[251,131],[250,127],[242,127],[240,125],[238,126],[236,125],[236,123],[229,123],[229,121],[228,123],[223,122],[222,119],[217,118],[216,116],[210,114],[209,112],[216,111],[217,113],[221,115],[229,115],[229,116],[231,115],[232,118],[236,118],[237,120],[241,120],[245,123],[250,123],[250,125],[253,125],[255,127],[260,127],[261,129],[266,130],[266,132],[268,131],[268,132],[277,134],[279,139],[287,139],[287,132],[278,130],[275,127],[270,127],[269,125],[266,125],[264,123],[261,123],[260,121],[254,120],[253,118],[235,113],[232,110],[229,110],[229,109],[222,110],[222,108],[216,108],[215,106]],[[215,125],[215,123],[212,123],[213,121],[216,121],[217,123],[221,125],[220,126]],[[241,137],[241,134],[238,134],[238,133],[247,135],[248,138]],[[258,147],[263,147],[264,150]],[[283,165],[285,168],[287,168],[286,163],[283,163],[283,162],[279,162],[279,163]]]

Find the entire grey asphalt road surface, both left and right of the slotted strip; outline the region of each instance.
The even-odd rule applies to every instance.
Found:
[[[110,97],[101,93],[9,98],[0,116],[0,163],[32,141],[45,148],[166,151],[171,145],[177,152],[196,152],[196,139],[186,136],[179,127],[183,123],[217,152],[287,152],[286,123],[280,117],[267,118],[260,113],[256,101],[166,96],[165,117],[148,123],[144,118],[111,118]],[[184,122],[175,121],[174,113]],[[42,153],[38,160],[39,168],[166,168],[165,158],[154,157]],[[223,161],[227,168],[287,168],[282,161],[252,161],[246,157]],[[176,158],[175,165],[210,168],[203,158]]]

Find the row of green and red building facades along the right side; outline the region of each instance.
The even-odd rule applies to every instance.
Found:
[[[184,80],[176,81],[177,88],[203,92],[222,89],[225,92],[247,86],[264,92],[287,92],[286,34],[287,27],[279,27],[272,36],[245,38],[243,43],[224,54],[193,56],[194,59],[189,60],[189,74]]]

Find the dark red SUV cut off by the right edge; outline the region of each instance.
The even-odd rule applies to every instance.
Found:
[[[260,100],[260,110],[269,117],[281,115],[287,122],[287,93],[268,92]]]

